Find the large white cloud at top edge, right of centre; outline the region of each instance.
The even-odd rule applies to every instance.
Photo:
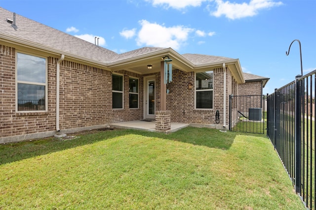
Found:
[[[229,19],[240,19],[244,17],[252,17],[258,14],[261,9],[269,9],[274,6],[282,5],[281,1],[273,0],[250,0],[249,3],[231,3],[230,1],[215,0],[217,10],[211,11],[211,15],[220,17],[224,15]]]

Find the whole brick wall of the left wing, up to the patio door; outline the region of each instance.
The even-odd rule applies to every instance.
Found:
[[[34,134],[42,134],[39,137],[45,136],[44,133],[52,135],[56,130],[58,58],[47,57],[47,112],[16,112],[15,51],[0,45],[0,143],[28,139],[29,134],[33,138]],[[142,76],[128,71],[118,73],[124,80],[124,107],[113,110],[112,72],[63,60],[60,63],[60,130],[142,119]],[[129,109],[129,77],[139,79],[139,108],[136,109]]]

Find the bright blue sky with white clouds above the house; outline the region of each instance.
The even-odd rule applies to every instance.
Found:
[[[0,0],[0,7],[124,53],[171,47],[239,59],[263,92],[316,69],[316,0]]]

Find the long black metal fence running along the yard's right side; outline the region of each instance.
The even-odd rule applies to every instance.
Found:
[[[267,136],[311,210],[316,201],[315,84],[316,70],[267,96]]]

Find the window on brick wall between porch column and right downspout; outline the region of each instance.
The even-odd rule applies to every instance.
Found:
[[[213,72],[196,74],[196,109],[213,109]]]

